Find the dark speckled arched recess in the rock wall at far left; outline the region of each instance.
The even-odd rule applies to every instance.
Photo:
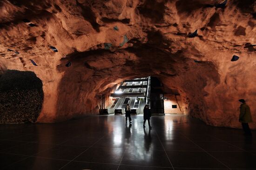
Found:
[[[43,104],[42,85],[34,72],[4,72],[0,76],[0,123],[36,122]]]

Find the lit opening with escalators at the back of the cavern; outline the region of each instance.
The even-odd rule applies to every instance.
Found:
[[[125,107],[130,105],[131,114],[143,114],[148,105],[152,114],[183,114],[182,100],[177,90],[164,88],[156,77],[128,79],[110,94],[112,103],[108,105],[108,113],[122,115]]]

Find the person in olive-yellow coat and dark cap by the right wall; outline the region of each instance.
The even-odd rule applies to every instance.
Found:
[[[240,115],[239,115],[239,122],[242,123],[244,135],[251,135],[251,130],[249,128],[249,122],[252,122],[251,119],[251,112],[248,105],[246,105],[244,99],[240,99],[239,102],[242,104],[240,105]]]

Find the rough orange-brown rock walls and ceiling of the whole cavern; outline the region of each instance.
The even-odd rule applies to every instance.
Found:
[[[98,114],[97,95],[156,76],[179,90],[187,114],[240,127],[240,98],[256,120],[256,2],[212,7],[221,2],[2,0],[0,74],[32,71],[42,80],[37,122]]]

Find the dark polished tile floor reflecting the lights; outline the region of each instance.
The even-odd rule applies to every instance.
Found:
[[[183,115],[1,124],[0,170],[256,170],[255,137]]]

